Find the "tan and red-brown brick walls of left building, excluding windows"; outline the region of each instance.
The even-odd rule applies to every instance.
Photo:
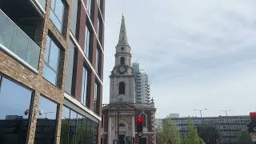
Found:
[[[7,0],[6,0],[7,1]],[[68,42],[71,38],[70,36],[70,10],[72,9],[71,0],[62,0],[62,2],[65,5],[64,9],[64,17],[63,17],[63,25],[62,25],[62,34],[58,31],[58,29],[54,26],[54,23],[50,20],[50,4],[51,0],[46,0],[46,9],[45,14],[42,14],[42,18],[40,19],[36,25],[36,30],[34,33],[34,42],[38,44],[38,46],[41,48],[40,50],[40,57],[39,57],[39,65],[38,65],[38,73],[34,72],[33,70],[30,70],[28,66],[26,66],[24,63],[18,61],[17,58],[14,58],[11,54],[7,54],[6,51],[0,49],[0,74],[4,75],[7,78],[13,79],[15,82],[21,83],[23,86],[27,86],[31,90],[34,91],[33,100],[31,103],[31,116],[30,116],[30,125],[29,125],[29,132],[27,137],[27,143],[33,144],[34,143],[34,137],[35,137],[35,130],[37,125],[37,115],[34,114],[34,111],[38,109],[38,98],[42,94],[46,96],[47,98],[50,98],[50,100],[58,103],[58,112],[57,112],[57,131],[56,131],[56,140],[55,143],[60,143],[60,135],[61,135],[61,126],[62,126],[62,107],[64,103],[65,98],[65,78],[66,78],[66,65],[67,65],[67,48],[68,48]],[[78,16],[78,36],[77,41],[78,47],[82,48],[84,46],[84,39],[85,39],[85,26],[87,21],[87,14],[86,14],[86,8],[84,7],[84,3],[86,0],[78,0],[81,5],[79,6],[80,14]],[[92,18],[93,25],[92,27],[97,26],[97,19],[98,19],[98,11],[99,7],[97,0],[92,0],[92,8],[94,11],[92,12],[94,14],[94,18]],[[34,9],[33,13],[40,13],[38,10],[38,7],[33,5],[31,3],[30,6],[34,6],[37,9]],[[101,13],[104,14],[104,6],[105,6],[105,0],[101,0],[101,6],[102,11]],[[38,16],[39,17],[39,16]],[[99,16],[99,18],[102,18],[102,22],[104,21],[103,17]],[[102,34],[104,34],[104,23],[102,23]],[[95,32],[96,30],[94,30]],[[43,66],[44,66],[44,59],[46,54],[46,38],[48,35],[51,35],[51,38],[54,38],[54,42],[58,44],[58,46],[61,49],[59,64],[58,64],[58,84],[57,86],[54,86],[50,82],[46,80],[46,78],[43,78]],[[74,36],[75,37],[75,36]],[[71,38],[72,39],[72,38]],[[102,35],[102,40],[104,39],[104,36]],[[99,99],[99,114],[98,115],[98,143],[100,142],[101,133],[100,133],[100,127],[101,127],[101,111],[102,111],[102,78],[103,78],[103,41],[102,43],[98,43],[98,39],[96,36],[96,33],[93,33],[93,41],[92,41],[92,61],[89,62],[87,65],[91,69],[91,81],[90,81],[90,107],[89,111],[87,110],[86,113],[88,114],[94,114],[94,83],[96,78],[99,81],[100,85],[100,99]],[[101,64],[101,74],[97,77],[97,73],[95,72],[95,52],[97,49],[97,46],[101,46],[101,54],[102,54],[102,64]],[[84,55],[82,54],[82,51],[79,49],[76,50],[78,52],[77,56],[74,60],[74,68],[75,71],[75,80],[74,80],[74,95],[72,96],[74,98],[74,102],[80,103],[81,102],[81,90],[82,90],[82,67],[83,64],[88,62],[85,60]],[[74,103],[74,105],[77,105],[77,103]],[[78,106],[78,105],[77,105]],[[84,110],[83,107],[81,107],[82,110]],[[93,117],[95,117],[93,115]],[[96,118],[96,117],[95,117]]]

